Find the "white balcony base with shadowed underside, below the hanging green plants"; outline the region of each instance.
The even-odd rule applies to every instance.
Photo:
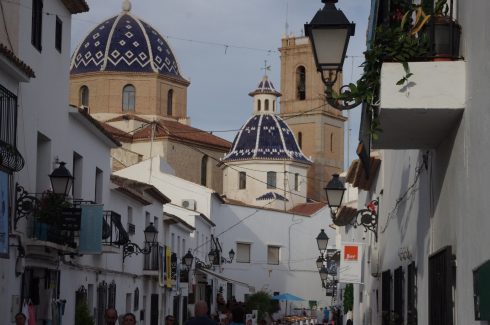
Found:
[[[457,126],[466,103],[464,61],[410,62],[408,84],[400,63],[381,69],[380,123],[376,149],[436,148]]]

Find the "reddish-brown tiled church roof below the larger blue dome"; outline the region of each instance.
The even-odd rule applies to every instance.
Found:
[[[106,123],[128,120],[128,119],[133,119],[148,124],[143,126],[141,129],[137,130],[136,132],[134,132],[132,136],[120,130],[116,131],[117,129],[114,127],[109,126],[106,127],[106,129],[109,132],[113,133],[113,135],[121,141],[137,141],[142,139],[149,139],[151,137],[152,134],[151,122],[133,114],[121,115],[112,118],[110,120],[107,120]],[[155,134],[154,134],[156,139],[171,138],[184,142],[199,143],[206,146],[218,147],[219,149],[223,150],[223,152],[227,152],[231,148],[231,143],[229,141],[226,141],[225,139],[217,137],[213,134],[210,134],[207,131],[193,128],[191,126],[179,123],[177,121],[159,120],[156,121],[155,123],[157,126],[155,128]]]

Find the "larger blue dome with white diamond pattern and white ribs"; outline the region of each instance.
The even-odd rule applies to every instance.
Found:
[[[129,10],[96,26],[73,54],[70,68],[71,74],[154,72],[183,79],[163,36]]]

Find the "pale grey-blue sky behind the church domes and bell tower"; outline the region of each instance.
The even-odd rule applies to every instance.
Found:
[[[86,0],[90,11],[72,16],[72,53],[98,23],[117,15],[123,0]],[[280,91],[278,48],[287,34],[303,35],[303,28],[320,0],[130,0],[131,13],[164,37],[191,84],[187,113],[191,124],[232,141],[252,114],[248,96],[271,66],[270,80]],[[369,0],[339,0],[347,18],[356,23],[344,65],[344,83],[359,78],[365,50]],[[345,165],[355,159],[360,108],[344,113]],[[347,115],[349,114],[349,115]],[[234,130],[231,132],[221,132]],[[349,150],[347,150],[349,144]]]

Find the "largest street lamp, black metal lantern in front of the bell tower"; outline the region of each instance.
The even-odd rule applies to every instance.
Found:
[[[305,24],[305,34],[310,39],[318,72],[325,84],[327,102],[338,110],[352,109],[360,102],[344,102],[333,95],[333,85],[342,71],[349,38],[354,36],[354,23],[349,22],[342,10],[335,7],[337,0],[322,0],[325,4],[309,24]],[[340,92],[348,86],[342,86]]]

